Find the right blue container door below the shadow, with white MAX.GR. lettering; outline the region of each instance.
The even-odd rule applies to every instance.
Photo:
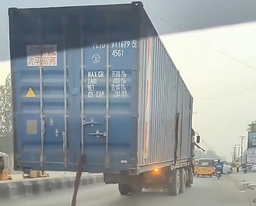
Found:
[[[137,41],[85,47],[81,70],[82,149],[86,171],[131,165],[137,125]]]

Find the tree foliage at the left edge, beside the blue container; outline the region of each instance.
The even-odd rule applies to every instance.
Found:
[[[12,153],[12,84],[11,74],[0,85],[0,151]]]

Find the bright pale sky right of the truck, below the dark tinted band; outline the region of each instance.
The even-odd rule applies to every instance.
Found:
[[[250,23],[163,37],[194,97],[193,127],[221,155],[256,119],[255,36]]]

